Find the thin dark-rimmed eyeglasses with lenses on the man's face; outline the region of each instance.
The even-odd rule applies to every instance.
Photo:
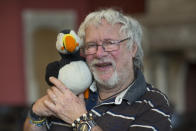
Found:
[[[112,52],[119,50],[120,43],[131,39],[131,37],[125,38],[123,40],[105,40],[102,42],[102,45],[98,45],[94,42],[86,43],[86,46],[84,47],[84,54],[85,55],[93,55],[97,52],[98,46],[102,46],[103,50],[105,52]]]

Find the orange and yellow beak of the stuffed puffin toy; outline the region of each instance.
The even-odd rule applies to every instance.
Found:
[[[66,34],[63,38],[63,44],[65,46],[65,49],[68,52],[74,52],[76,47],[79,46],[78,43],[76,43],[76,40],[74,37],[70,34]]]

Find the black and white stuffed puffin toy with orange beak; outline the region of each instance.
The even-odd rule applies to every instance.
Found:
[[[80,47],[81,40],[73,30],[61,31],[56,41],[61,59],[47,65],[45,79],[52,86],[49,77],[54,76],[75,95],[84,92],[85,98],[88,98],[87,88],[92,83],[92,75],[84,58],[80,56]]]

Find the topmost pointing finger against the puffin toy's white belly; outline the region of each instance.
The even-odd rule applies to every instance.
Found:
[[[55,77],[49,78],[50,82],[52,82],[61,92],[65,92],[68,88],[58,79]]]

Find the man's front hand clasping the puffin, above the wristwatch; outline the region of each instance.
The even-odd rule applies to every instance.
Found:
[[[71,124],[87,112],[83,94],[76,96],[54,77],[50,77],[50,81],[55,85],[47,90],[51,101],[45,100],[44,103],[57,117]]]

